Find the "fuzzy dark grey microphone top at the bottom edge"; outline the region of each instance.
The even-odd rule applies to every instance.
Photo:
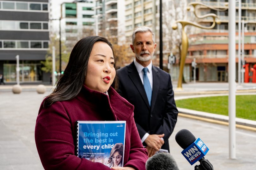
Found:
[[[170,153],[160,152],[148,159],[146,170],[179,170],[179,167]]]

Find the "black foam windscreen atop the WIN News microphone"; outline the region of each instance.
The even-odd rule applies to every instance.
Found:
[[[181,129],[175,136],[176,142],[180,145],[182,149],[186,149],[191,145],[196,137],[187,129]]]

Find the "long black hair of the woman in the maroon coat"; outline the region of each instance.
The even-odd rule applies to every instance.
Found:
[[[79,40],[71,51],[70,58],[64,74],[57,82],[54,91],[46,96],[43,106],[52,105],[53,102],[69,100],[76,97],[81,91],[87,73],[88,60],[96,42],[107,43],[112,49],[115,57],[115,50],[112,44],[104,37],[88,36]],[[115,67],[115,65],[114,65]],[[117,89],[118,82],[114,78],[112,87]]]

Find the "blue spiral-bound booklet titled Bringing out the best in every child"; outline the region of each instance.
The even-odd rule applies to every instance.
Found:
[[[77,156],[123,167],[126,121],[77,121]]]

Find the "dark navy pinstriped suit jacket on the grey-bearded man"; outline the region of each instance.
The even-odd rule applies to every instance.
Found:
[[[117,70],[119,94],[134,105],[134,119],[140,138],[143,138],[145,133],[164,133],[165,143],[162,149],[169,150],[168,139],[174,130],[178,116],[171,76],[153,65],[152,73],[151,107],[134,62]]]

